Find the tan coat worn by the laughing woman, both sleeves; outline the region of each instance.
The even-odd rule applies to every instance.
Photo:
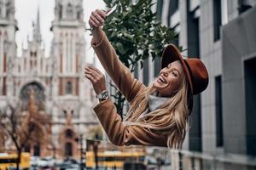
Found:
[[[137,81],[131,74],[131,71],[123,65],[113,46],[108,41],[108,37],[104,34],[102,41],[91,42],[98,59],[100,59],[104,69],[112,78],[113,82],[118,86],[122,94],[128,102],[136,98],[137,94],[142,92],[146,87],[142,82]],[[100,102],[94,108],[96,116],[102,123],[102,127],[108,134],[108,139],[116,145],[158,145],[166,146],[167,137],[162,133],[149,130],[145,127],[135,125],[125,125],[121,117],[117,114],[117,110],[111,99]]]

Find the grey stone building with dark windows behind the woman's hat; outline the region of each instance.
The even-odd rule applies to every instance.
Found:
[[[160,20],[177,31],[177,44],[187,49],[183,56],[200,58],[209,72],[207,90],[195,96],[183,149],[255,156],[256,2],[156,2]]]

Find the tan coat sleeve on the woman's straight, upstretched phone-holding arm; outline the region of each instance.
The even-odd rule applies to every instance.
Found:
[[[91,46],[94,48],[102,66],[108,72],[109,77],[112,78],[121,93],[125,95],[125,98],[131,102],[137,92],[142,90],[141,88],[145,88],[144,84],[137,81],[132,76],[131,71],[121,63],[105,33],[103,33],[102,41],[97,44],[92,39]]]

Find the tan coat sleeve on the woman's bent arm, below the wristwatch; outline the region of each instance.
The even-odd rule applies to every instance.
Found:
[[[96,116],[108,135],[108,139],[115,145],[154,145],[166,146],[166,136],[150,131],[148,128],[135,125],[125,125],[117,114],[111,99],[106,99],[94,108]]]

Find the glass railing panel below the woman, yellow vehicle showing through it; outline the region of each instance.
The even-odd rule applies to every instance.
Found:
[[[106,141],[87,140],[87,169],[129,170],[256,170],[256,157],[170,150],[149,146],[114,146]]]

